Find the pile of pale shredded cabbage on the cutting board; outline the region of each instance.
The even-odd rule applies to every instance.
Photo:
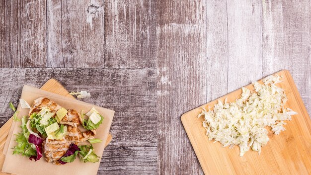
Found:
[[[242,87],[242,95],[235,102],[223,104],[220,100],[214,110],[198,115],[204,116],[203,126],[209,140],[219,141],[224,147],[238,145],[239,156],[243,156],[251,147],[260,154],[261,146],[269,141],[265,126],[270,126],[274,134],[284,131],[284,120],[291,120],[297,112],[284,105],[287,96],[284,89],[276,84],[282,82],[280,76],[269,76],[263,79],[263,85],[253,82],[254,92]],[[215,143],[214,142],[214,143]]]

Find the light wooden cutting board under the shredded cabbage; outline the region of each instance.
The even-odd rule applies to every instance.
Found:
[[[218,99],[193,109],[181,116],[181,121],[187,132],[192,147],[206,175],[311,175],[311,120],[301,99],[291,74],[286,71],[276,73],[283,76],[283,82],[277,86],[285,89],[288,96],[286,108],[298,112],[291,121],[286,121],[285,131],[274,135],[271,131],[270,141],[261,149],[258,155],[248,151],[239,157],[238,146],[229,149],[219,142],[209,141],[202,125],[203,117],[197,118],[201,107],[213,107]],[[260,81],[260,83],[262,83]],[[253,89],[252,85],[246,88]],[[228,98],[234,101],[242,93],[235,90],[219,100]]]

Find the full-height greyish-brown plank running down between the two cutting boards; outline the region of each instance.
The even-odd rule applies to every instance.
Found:
[[[205,5],[204,0],[156,2],[160,175],[202,173],[180,115],[207,100]]]

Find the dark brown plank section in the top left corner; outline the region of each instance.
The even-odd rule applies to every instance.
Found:
[[[46,67],[45,0],[1,0],[0,67]]]

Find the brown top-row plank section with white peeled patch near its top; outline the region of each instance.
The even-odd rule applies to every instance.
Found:
[[[47,10],[47,67],[103,67],[103,0],[48,0]]]

